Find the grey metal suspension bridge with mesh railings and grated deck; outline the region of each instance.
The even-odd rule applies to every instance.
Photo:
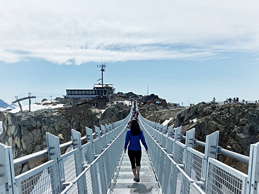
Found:
[[[94,133],[86,127],[83,137],[72,129],[72,140],[64,144],[46,133],[46,149],[17,159],[13,159],[12,147],[0,143],[0,194],[259,193],[258,143],[250,146],[248,157],[218,146],[219,131],[201,142],[195,139],[195,129],[183,136],[181,127],[168,127],[141,115],[139,124],[149,153],[142,148],[140,182],[134,182],[130,160],[123,151],[131,112],[118,122],[95,126]],[[84,141],[87,143],[82,145]],[[204,153],[195,150],[195,144],[205,147]],[[71,151],[61,155],[60,149],[69,146]],[[218,161],[218,154],[247,163],[248,174]],[[43,155],[47,162],[15,175],[16,165]]]

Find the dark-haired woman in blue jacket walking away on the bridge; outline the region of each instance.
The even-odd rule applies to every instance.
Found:
[[[125,146],[124,152],[126,153],[128,147],[128,156],[131,162],[132,172],[134,174],[134,181],[137,183],[140,181],[139,179],[139,172],[140,172],[140,161],[141,161],[141,146],[140,140],[143,146],[146,148],[147,151],[147,144],[145,141],[145,137],[143,131],[140,129],[139,123],[137,120],[132,119],[130,123],[130,129],[127,131],[126,138],[125,138]],[[128,144],[130,145],[128,146]]]

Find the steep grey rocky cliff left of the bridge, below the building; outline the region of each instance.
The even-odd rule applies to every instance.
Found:
[[[81,101],[77,100],[76,103]],[[83,136],[86,126],[93,129],[94,125],[100,126],[100,124],[121,120],[130,111],[127,105],[118,103],[107,108],[102,115],[100,110],[85,103],[81,103],[83,106],[74,107],[68,105],[70,103],[68,100],[62,103],[66,103],[67,106],[33,112],[25,111],[25,113],[0,113],[3,120],[0,142],[12,146],[13,157],[18,158],[46,148],[46,132],[58,136],[60,143],[64,143],[71,139],[71,129],[80,131]],[[44,157],[39,157],[23,165],[16,165],[15,173],[27,171],[43,163],[44,160]]]

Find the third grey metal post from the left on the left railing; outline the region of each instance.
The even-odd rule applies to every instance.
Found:
[[[100,133],[100,131],[99,131]],[[80,162],[81,162],[81,165],[79,164],[76,164],[76,176],[79,176],[83,170],[84,170],[84,156],[83,156],[83,150],[82,150],[82,143],[81,143],[81,133],[74,130],[74,129],[71,129],[71,136],[72,136],[72,145],[73,145],[73,149],[77,149],[79,148],[79,153],[80,153]],[[76,162],[76,160],[75,160]],[[80,169],[78,169],[80,168]],[[77,189],[78,189],[78,193],[80,193],[80,191],[87,191],[87,185],[86,185],[86,178],[85,176],[82,176],[83,179],[81,181],[82,184],[77,184]]]

